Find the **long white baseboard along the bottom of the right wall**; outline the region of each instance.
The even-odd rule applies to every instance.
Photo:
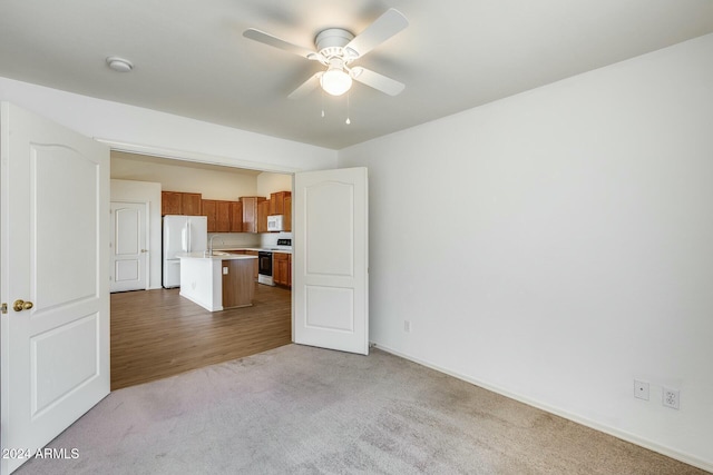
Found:
[[[388,346],[379,345],[379,344],[375,344],[373,342],[370,343],[370,346],[374,347],[374,348],[378,348],[378,349],[381,349],[383,352],[390,353],[390,354],[392,354],[394,356],[399,356],[399,357],[401,357],[403,359],[408,359],[410,362],[417,363],[417,364],[419,364],[421,366],[426,366],[428,368],[436,369],[439,373],[443,373],[443,374],[447,374],[447,375],[452,376],[455,378],[462,379],[462,380],[465,380],[467,383],[470,383],[472,385],[482,387],[484,389],[488,389],[488,390],[497,393],[497,394],[499,394],[501,396],[509,397],[510,399],[515,399],[515,400],[518,400],[520,403],[527,404],[528,406],[537,407],[538,409],[543,409],[543,410],[548,412],[550,414],[554,414],[556,416],[564,417],[564,418],[566,418],[568,420],[575,422],[577,424],[582,424],[583,426],[587,426],[587,427],[593,428],[595,431],[599,431],[599,432],[603,432],[605,434],[612,435],[614,437],[621,438],[622,441],[631,442],[632,444],[638,445],[638,446],[644,447],[644,448],[648,448],[649,451],[653,451],[653,452],[657,452],[657,453],[660,453],[662,455],[665,455],[667,457],[671,457],[671,458],[674,458],[676,461],[683,462],[684,464],[688,464],[688,465],[692,465],[694,467],[701,468],[703,471],[713,473],[713,464],[707,463],[705,461],[702,461],[702,459],[700,459],[700,458],[697,458],[697,457],[695,457],[693,455],[690,455],[690,454],[673,449],[671,447],[663,446],[663,445],[657,444],[655,442],[652,442],[652,441],[648,441],[646,438],[639,437],[639,436],[637,436],[635,434],[631,434],[631,433],[627,433],[625,431],[621,431],[621,429],[618,429],[616,427],[611,427],[611,426],[607,426],[605,424],[600,424],[600,423],[598,423],[596,420],[592,420],[592,419],[588,419],[586,417],[582,417],[582,416],[579,416],[577,414],[573,414],[573,413],[569,413],[567,410],[563,410],[560,408],[557,408],[557,407],[554,407],[554,406],[549,406],[549,405],[544,404],[544,403],[541,403],[539,400],[535,400],[535,399],[531,399],[529,397],[511,393],[511,392],[509,392],[507,389],[504,389],[501,387],[494,386],[491,384],[488,384],[488,383],[471,378],[471,377],[462,375],[460,373],[452,372],[452,370],[450,370],[448,368],[445,368],[445,367],[441,367],[439,365],[434,365],[434,364],[432,364],[430,362],[427,362],[427,360],[423,360],[423,359],[420,359],[420,358],[416,358],[416,357],[413,357],[411,355],[407,355],[407,354],[401,353],[399,350],[395,350],[393,348],[389,348]]]

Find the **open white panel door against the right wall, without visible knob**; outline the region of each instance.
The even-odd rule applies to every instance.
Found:
[[[369,354],[367,168],[295,174],[294,342]]]

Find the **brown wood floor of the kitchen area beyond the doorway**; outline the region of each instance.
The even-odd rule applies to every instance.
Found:
[[[177,288],[111,294],[111,389],[291,343],[291,291],[255,286],[252,307],[213,313]]]

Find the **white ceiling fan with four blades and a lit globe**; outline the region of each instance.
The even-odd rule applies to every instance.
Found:
[[[321,86],[332,96],[341,96],[352,86],[352,79],[370,86],[389,96],[399,95],[403,83],[383,75],[351,63],[393,37],[409,26],[409,21],[398,10],[391,8],[358,36],[342,28],[329,28],[320,31],[314,39],[316,51],[303,48],[254,28],[243,32],[245,38],[299,55],[326,67],[297,87],[287,96],[300,99]]]

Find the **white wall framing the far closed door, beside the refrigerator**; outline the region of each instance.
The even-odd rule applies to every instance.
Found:
[[[111,180],[111,201],[148,202],[148,286],[162,285],[160,184]]]

